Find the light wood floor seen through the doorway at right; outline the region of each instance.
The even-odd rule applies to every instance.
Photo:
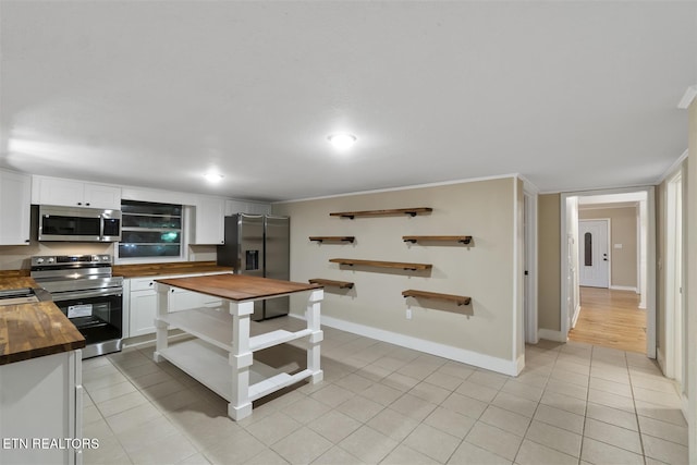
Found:
[[[568,339],[646,353],[646,310],[633,291],[580,287],[580,315]]]

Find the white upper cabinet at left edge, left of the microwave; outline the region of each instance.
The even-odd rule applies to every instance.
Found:
[[[0,170],[0,245],[28,245],[32,176]]]

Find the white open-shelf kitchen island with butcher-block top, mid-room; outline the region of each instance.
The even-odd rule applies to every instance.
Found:
[[[234,420],[252,414],[252,402],[298,381],[322,380],[320,368],[320,302],[323,290],[316,284],[272,280],[243,274],[217,274],[156,280],[158,310],[155,360],[167,359],[229,402]],[[171,311],[167,295],[172,287],[223,299],[222,308]],[[307,293],[306,328],[277,330],[250,336],[254,302]],[[196,339],[171,343],[168,330],[178,328]],[[289,374],[254,359],[254,353],[302,338],[307,339],[307,367]]]

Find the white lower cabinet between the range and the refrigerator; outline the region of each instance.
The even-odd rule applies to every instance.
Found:
[[[130,280],[131,292],[129,293],[129,336],[155,333],[155,317],[157,314],[157,293],[155,292],[155,280],[166,278],[184,278],[198,274],[176,274],[159,276],[157,278],[133,278]],[[215,273],[212,273],[215,274]],[[171,311],[179,311],[194,307],[215,308],[222,305],[222,299],[209,295],[186,291],[183,289],[172,290],[169,293],[169,305]]]

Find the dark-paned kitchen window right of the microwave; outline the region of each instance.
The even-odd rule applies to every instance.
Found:
[[[181,256],[182,210],[181,205],[122,200],[119,258]]]

